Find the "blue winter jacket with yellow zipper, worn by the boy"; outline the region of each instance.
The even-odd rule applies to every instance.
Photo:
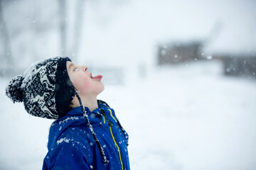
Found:
[[[127,143],[116,121],[114,110],[102,103],[98,103],[98,106],[99,108],[92,112],[85,107],[85,111],[110,162],[103,163],[100,150],[82,115],[82,108],[78,107],[72,108],[63,118],[55,120],[51,125],[43,170],[130,169]],[[100,109],[105,111],[112,127],[100,113]]]

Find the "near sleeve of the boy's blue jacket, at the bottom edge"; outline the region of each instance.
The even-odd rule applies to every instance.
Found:
[[[62,142],[55,146],[43,160],[43,170],[89,170],[85,147],[75,142]]]

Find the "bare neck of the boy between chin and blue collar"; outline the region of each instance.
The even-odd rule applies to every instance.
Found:
[[[78,98],[75,96],[75,101],[73,101],[73,108],[79,107],[80,103],[78,101]],[[82,97],[80,96],[82,100],[83,106],[86,106],[90,109],[90,111],[94,111],[96,108],[99,108],[97,105],[97,96],[95,97]]]

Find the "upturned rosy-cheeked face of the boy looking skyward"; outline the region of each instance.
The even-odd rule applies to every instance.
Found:
[[[101,79],[92,79],[92,74],[88,72],[87,66],[78,66],[73,62],[67,62],[68,76],[75,89],[82,96],[97,96],[104,90]]]

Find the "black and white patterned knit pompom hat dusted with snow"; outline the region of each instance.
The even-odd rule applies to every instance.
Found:
[[[75,96],[66,67],[68,57],[53,57],[32,64],[6,86],[11,101],[23,102],[26,111],[41,118],[58,119],[68,112]]]

